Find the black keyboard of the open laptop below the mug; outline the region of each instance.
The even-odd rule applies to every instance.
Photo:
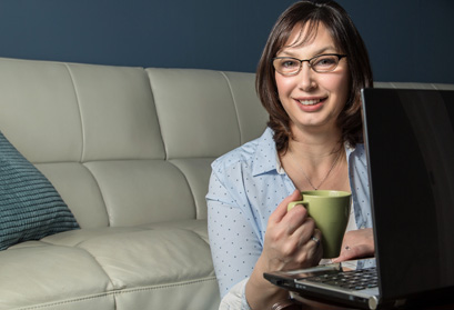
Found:
[[[331,274],[315,276],[305,278],[304,280],[341,287],[350,290],[371,289],[379,286],[375,267],[360,270],[341,271]]]

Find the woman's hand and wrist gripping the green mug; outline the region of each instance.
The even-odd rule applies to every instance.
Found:
[[[295,190],[285,198],[270,216],[266,227],[263,251],[246,283],[245,294],[252,309],[271,309],[275,302],[287,300],[289,291],[280,289],[263,278],[263,272],[311,267],[322,258],[320,230],[309,218],[303,206],[295,206],[289,212],[290,202],[301,200]]]

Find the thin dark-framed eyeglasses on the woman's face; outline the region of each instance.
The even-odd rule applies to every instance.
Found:
[[[282,76],[296,76],[300,73],[303,62],[307,61],[309,67],[317,73],[326,73],[334,71],[339,62],[346,54],[324,53],[315,56],[311,59],[297,59],[294,57],[275,57],[273,58],[273,67]]]

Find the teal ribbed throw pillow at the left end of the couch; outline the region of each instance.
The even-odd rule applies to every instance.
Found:
[[[49,180],[0,132],[0,250],[77,228]]]

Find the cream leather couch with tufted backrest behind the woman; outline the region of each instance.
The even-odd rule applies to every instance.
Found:
[[[210,164],[265,123],[251,73],[0,59],[0,131],[81,227],[0,251],[0,309],[218,309]]]

